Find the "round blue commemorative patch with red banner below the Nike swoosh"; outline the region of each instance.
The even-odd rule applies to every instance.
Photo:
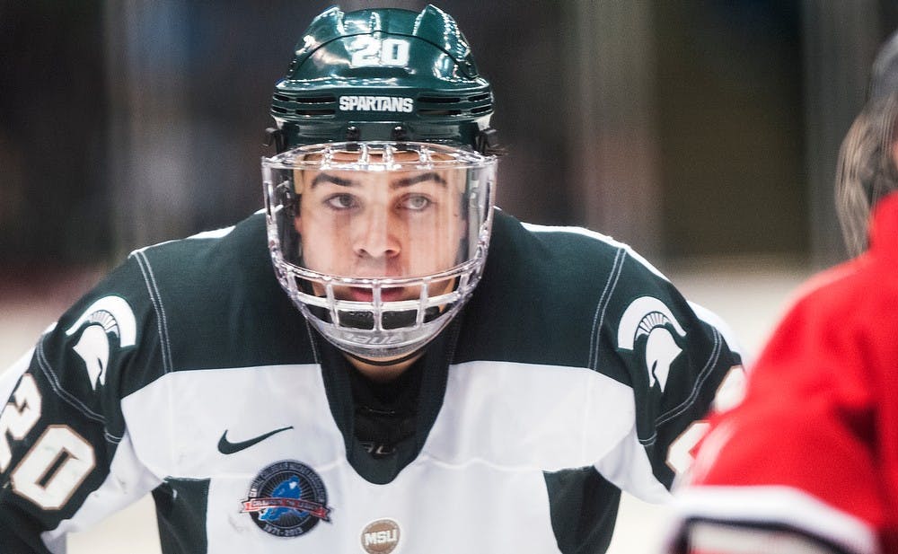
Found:
[[[330,523],[328,492],[309,466],[294,460],[275,462],[252,480],[242,501],[259,528],[276,537],[298,537],[320,521]]]

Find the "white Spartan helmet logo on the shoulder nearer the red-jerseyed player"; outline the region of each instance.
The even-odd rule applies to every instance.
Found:
[[[618,347],[624,350],[633,350],[640,337],[647,337],[648,386],[658,383],[662,392],[665,391],[671,364],[682,352],[674,333],[681,339],[686,336],[686,331],[670,308],[652,296],[640,296],[631,302],[624,310],[618,327]]]

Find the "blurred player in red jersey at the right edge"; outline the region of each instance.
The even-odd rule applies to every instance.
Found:
[[[806,285],[744,402],[714,419],[670,551],[898,552],[896,126],[898,33],[841,145],[841,223],[859,256]]]

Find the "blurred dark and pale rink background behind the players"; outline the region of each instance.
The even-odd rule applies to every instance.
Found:
[[[0,371],[100,278],[73,264],[260,207],[271,87],[330,4],[0,0]],[[894,0],[437,4],[495,87],[509,213],[670,260],[750,356],[810,268],[843,259],[836,154]],[[624,497],[610,551],[655,551],[664,521]],[[151,503],[70,546],[158,553]]]

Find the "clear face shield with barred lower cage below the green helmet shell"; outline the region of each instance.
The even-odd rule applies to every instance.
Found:
[[[306,145],[262,158],[281,286],[349,354],[388,360],[424,347],[480,280],[496,165],[412,142]]]

